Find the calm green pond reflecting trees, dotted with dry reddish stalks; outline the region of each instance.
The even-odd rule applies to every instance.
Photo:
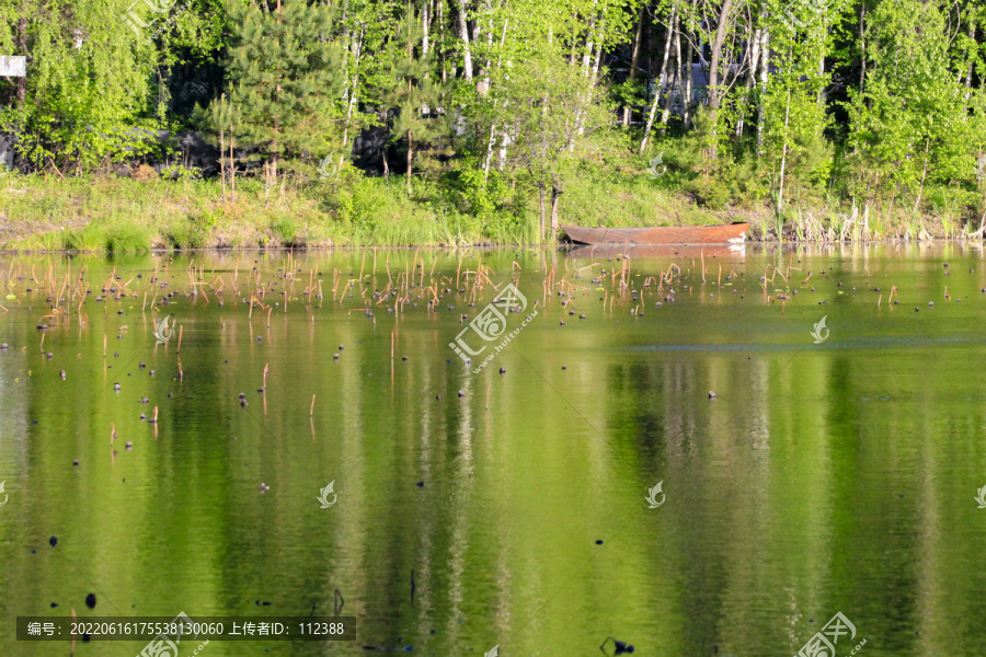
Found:
[[[35,254],[0,283],[3,655],[67,655],[15,619],[73,611],[348,619],[209,657],[986,653],[982,250]]]

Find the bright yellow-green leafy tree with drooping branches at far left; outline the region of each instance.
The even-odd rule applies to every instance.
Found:
[[[36,168],[82,171],[146,151],[156,54],[106,0],[0,2],[0,50],[27,57],[27,77],[0,79],[0,128]],[[114,14],[114,19],[116,15]]]

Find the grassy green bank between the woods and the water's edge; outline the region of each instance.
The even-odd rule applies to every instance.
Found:
[[[537,194],[492,174],[415,181],[348,172],[333,183],[309,181],[268,189],[237,182],[226,200],[218,180],[168,181],[99,176],[0,178],[0,250],[137,252],[151,249],[254,249],[519,244],[538,241]],[[714,193],[714,189],[712,191]],[[265,201],[266,196],[266,201]],[[562,223],[702,226],[749,221],[754,240],[847,241],[961,238],[966,227],[947,197],[929,195],[920,211],[853,205],[803,195],[782,212],[764,200],[719,204],[673,174],[652,177],[609,169],[574,175],[560,200]],[[967,219],[966,219],[967,221]]]

